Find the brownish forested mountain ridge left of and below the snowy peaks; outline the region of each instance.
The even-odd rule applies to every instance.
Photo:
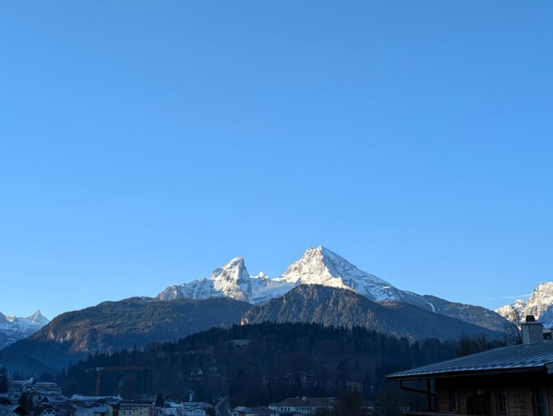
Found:
[[[27,357],[61,369],[69,361],[95,352],[141,348],[151,342],[174,341],[194,332],[229,326],[240,322],[250,307],[249,303],[226,298],[162,302],[137,297],[102,302],[58,315],[45,328],[4,348],[0,366],[10,368]]]

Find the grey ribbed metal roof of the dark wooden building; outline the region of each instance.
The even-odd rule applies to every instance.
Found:
[[[551,366],[547,366],[550,364]],[[547,367],[546,367],[547,366]],[[551,367],[551,370],[550,370]],[[386,379],[431,378],[466,372],[549,370],[553,372],[553,340],[496,348],[387,375]]]

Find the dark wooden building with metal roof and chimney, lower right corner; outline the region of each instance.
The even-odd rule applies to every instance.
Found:
[[[426,414],[553,416],[553,341],[527,316],[521,345],[388,375],[427,395]],[[424,386],[424,387],[421,387]]]

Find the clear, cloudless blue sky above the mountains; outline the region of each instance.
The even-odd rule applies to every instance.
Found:
[[[490,308],[553,280],[551,1],[0,5],[0,311],[324,245]]]

